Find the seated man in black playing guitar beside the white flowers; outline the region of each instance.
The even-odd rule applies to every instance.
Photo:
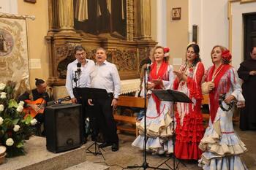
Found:
[[[36,86],[37,88],[34,88],[33,90],[29,91],[29,92],[25,92],[23,93],[21,96],[19,96],[18,101],[24,101],[24,109],[26,110],[26,108],[31,107],[32,111],[35,111],[36,114],[32,115],[32,117],[34,117],[38,123],[44,123],[45,121],[45,115],[44,114],[37,114],[37,113],[41,113],[39,112],[39,110],[42,110],[42,108],[39,107],[40,104],[33,104],[32,101],[37,101],[37,99],[41,98],[43,99],[42,101],[44,102],[44,106],[47,104],[47,102],[49,101],[49,95],[46,92],[46,88],[47,88],[47,83],[42,80],[42,79],[35,79],[36,80]],[[30,114],[30,113],[27,113]]]

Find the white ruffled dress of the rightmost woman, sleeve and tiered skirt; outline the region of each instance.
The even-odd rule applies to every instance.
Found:
[[[229,81],[230,80],[230,81]],[[219,81],[218,89],[223,90],[230,83],[230,90],[226,96],[232,94],[237,101],[244,101],[241,94],[241,85],[239,84],[238,74],[235,69],[227,70]],[[222,89],[221,89],[222,88]],[[227,109],[228,106],[222,101],[222,106]],[[240,155],[246,152],[246,147],[233,128],[234,107],[229,111],[223,111],[220,107],[217,109],[217,115],[214,122],[209,120],[208,128],[200,141],[199,147],[203,150],[199,166],[205,170],[244,170],[247,169]]]

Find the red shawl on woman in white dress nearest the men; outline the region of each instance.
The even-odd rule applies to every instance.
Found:
[[[168,68],[168,63],[163,61],[159,68],[159,71],[157,72],[157,62],[154,62],[151,65],[151,73],[150,73],[151,80],[157,80],[158,78],[160,78],[162,80],[167,71],[167,68]],[[154,87],[154,89],[161,89],[161,87],[160,87],[160,85],[157,85],[156,87]],[[152,93],[152,98],[154,99],[154,102],[156,103],[157,114],[159,115],[161,101],[153,93]]]

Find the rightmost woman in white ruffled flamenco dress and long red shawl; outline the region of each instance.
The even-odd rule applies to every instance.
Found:
[[[208,128],[199,144],[203,150],[199,166],[205,170],[247,169],[240,158],[245,144],[233,128],[234,103],[243,106],[244,97],[236,69],[228,64],[231,57],[225,47],[215,46],[211,51],[214,66],[206,72],[206,82],[211,83],[202,86],[203,92],[209,91],[210,108]]]

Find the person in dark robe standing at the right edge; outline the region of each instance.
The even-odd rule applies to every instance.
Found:
[[[240,112],[242,131],[256,130],[256,47],[250,51],[251,58],[240,64],[238,76],[244,81],[242,85],[245,107]]]

